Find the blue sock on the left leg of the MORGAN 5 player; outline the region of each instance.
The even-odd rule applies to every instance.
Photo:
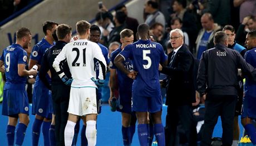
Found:
[[[140,141],[141,146],[148,146],[148,140],[147,137],[149,135],[149,132],[147,131],[147,124],[138,124],[138,137]]]

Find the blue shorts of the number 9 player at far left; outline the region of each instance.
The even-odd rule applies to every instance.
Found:
[[[28,96],[26,90],[8,89],[3,91],[4,116],[18,117],[19,113],[28,114]]]

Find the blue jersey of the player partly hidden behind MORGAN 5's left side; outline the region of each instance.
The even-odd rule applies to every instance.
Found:
[[[113,63],[116,56],[122,51],[122,49],[119,47],[119,49],[116,49],[111,53],[110,56],[110,68],[111,69],[117,69],[115,64]],[[129,71],[134,71],[134,67],[132,65],[132,61],[127,58],[123,62],[125,68]],[[118,85],[119,85],[119,94],[122,95],[130,95],[131,96],[131,89],[132,89],[132,83],[134,80],[130,79],[127,75],[124,74],[124,72],[117,69],[117,78],[118,78]],[[129,98],[127,98],[129,100]],[[130,99],[131,100],[131,99]]]

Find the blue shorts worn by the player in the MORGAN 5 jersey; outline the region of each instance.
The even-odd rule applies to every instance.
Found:
[[[162,111],[162,108],[163,100],[160,94],[152,97],[132,94],[132,111],[155,113]]]

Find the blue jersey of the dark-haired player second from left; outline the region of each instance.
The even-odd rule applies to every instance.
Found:
[[[46,51],[51,48],[51,44],[48,43],[46,39],[42,39],[39,41],[35,46],[33,46],[32,53],[30,55],[30,59],[37,60],[37,64],[41,65],[43,60],[43,55],[46,53]],[[47,74],[47,79],[50,82],[50,76]],[[44,86],[43,83],[40,81],[39,76],[36,77],[35,86],[40,85]]]

